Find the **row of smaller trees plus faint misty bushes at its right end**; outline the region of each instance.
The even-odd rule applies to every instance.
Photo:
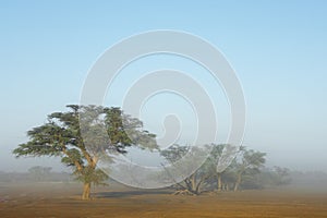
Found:
[[[182,182],[172,186],[177,190],[177,194],[197,195],[210,191],[227,192],[264,189],[284,185],[291,182],[289,169],[281,167],[266,168],[265,153],[246,147],[239,147],[234,153],[228,153],[228,150],[233,150],[235,147],[227,144],[214,144],[210,146],[211,152],[203,165]],[[208,146],[191,149],[187,146],[173,145],[162,150],[161,156],[173,166],[187,154],[191,158],[189,165],[186,164],[185,167],[190,167],[207,148]],[[169,180],[169,177],[175,173],[183,172],[172,173],[167,171],[166,179]],[[170,179],[172,180],[173,178]]]

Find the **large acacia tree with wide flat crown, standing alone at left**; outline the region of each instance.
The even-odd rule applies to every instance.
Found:
[[[45,124],[27,132],[28,142],[13,154],[21,156],[59,156],[84,184],[82,199],[90,196],[90,185],[105,183],[108,175],[97,168],[99,159],[124,154],[126,147],[156,147],[155,135],[143,131],[143,123],[120,108],[66,106],[66,112],[53,112]],[[102,156],[102,157],[101,157]]]

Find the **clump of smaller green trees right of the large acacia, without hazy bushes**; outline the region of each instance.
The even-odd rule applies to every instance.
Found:
[[[160,154],[168,162],[174,164],[187,153],[191,153],[194,157],[190,162],[190,166],[192,166],[196,156],[208,149],[208,147],[206,145],[190,150],[186,146],[173,145]],[[235,146],[228,144],[211,144],[210,147],[211,152],[206,161],[193,174],[185,178],[183,184],[178,184],[178,190],[184,189],[189,193],[199,194],[203,191],[217,189],[219,191],[230,189],[237,191],[239,185],[242,189],[264,187],[258,175],[266,161],[265,153],[246,149],[245,147],[241,147],[235,153]],[[235,154],[238,157],[234,157]],[[221,171],[222,168],[219,165],[228,165],[228,167]]]

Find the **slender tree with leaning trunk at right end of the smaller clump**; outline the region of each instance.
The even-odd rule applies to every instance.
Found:
[[[234,191],[239,190],[244,173],[259,172],[259,169],[264,167],[264,164],[266,162],[265,153],[254,152],[253,149],[247,150],[244,147],[242,147],[241,154],[241,161],[237,162],[235,165],[237,181],[234,185]]]

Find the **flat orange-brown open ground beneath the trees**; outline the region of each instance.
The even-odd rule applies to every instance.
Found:
[[[275,190],[171,195],[168,190],[98,187],[80,201],[81,186],[62,183],[0,184],[0,217],[327,217],[327,192]]]

